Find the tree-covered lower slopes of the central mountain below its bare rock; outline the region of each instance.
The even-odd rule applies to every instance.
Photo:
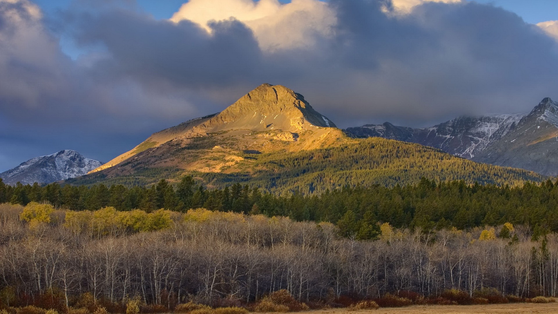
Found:
[[[220,164],[222,166],[219,166],[218,171],[215,167],[206,167],[200,171],[180,166],[154,166],[162,162],[153,160],[159,158],[157,156],[175,156],[175,159],[181,160],[181,164],[194,163],[201,156],[213,156],[214,160],[207,163],[217,163],[225,157],[215,152],[214,145],[217,142],[213,136],[198,137],[195,143],[184,148],[173,148],[183,151],[184,155],[167,151],[170,149],[167,146],[172,146],[168,144],[155,149],[165,150],[165,154],[153,153],[149,154],[153,155],[150,158],[132,159],[102,172],[70,179],[67,183],[89,186],[96,183],[122,184],[133,187],[155,184],[160,179],[177,182],[184,175],[191,175],[212,188],[241,183],[274,194],[290,195],[295,192],[324,193],[345,185],[371,187],[380,184],[393,187],[396,184],[417,184],[423,177],[441,182],[464,180],[467,184],[478,182],[502,186],[546,180],[546,177],[527,170],[475,163],[427,146],[379,137],[312,150],[277,150],[268,153],[239,151],[234,155],[234,162]],[[227,154],[230,158],[233,153]],[[197,161],[195,164],[199,165]]]

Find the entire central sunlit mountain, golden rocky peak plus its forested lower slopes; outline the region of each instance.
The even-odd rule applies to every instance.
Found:
[[[405,129],[393,129],[404,133]],[[355,139],[281,85],[263,84],[220,113],[157,132],[71,184],[149,185],[193,175],[208,187],[249,183],[274,193],[325,192],[463,179],[522,184],[543,176],[479,164],[408,142]]]

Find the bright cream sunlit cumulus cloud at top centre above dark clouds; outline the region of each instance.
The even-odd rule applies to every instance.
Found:
[[[188,20],[211,32],[211,23],[234,18],[254,32],[264,51],[310,48],[316,36],[331,36],[335,12],[319,0],[191,0],[171,21]]]

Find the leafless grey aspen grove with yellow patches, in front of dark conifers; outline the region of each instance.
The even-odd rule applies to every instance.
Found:
[[[430,232],[386,222],[374,241],[339,232],[329,222],[203,208],[2,204],[0,307],[86,313],[97,303],[123,313],[141,300],[142,312],[153,313],[191,302],[249,307],[277,291],[305,302],[301,308],[359,299],[382,306],[547,302],[542,296],[558,293],[556,234],[534,239],[528,227],[509,222]]]

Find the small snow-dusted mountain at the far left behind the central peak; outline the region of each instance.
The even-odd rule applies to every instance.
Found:
[[[6,184],[51,183],[79,177],[102,165],[100,161],[88,159],[74,150],[61,150],[58,153],[35,157],[16,168],[0,173]]]

